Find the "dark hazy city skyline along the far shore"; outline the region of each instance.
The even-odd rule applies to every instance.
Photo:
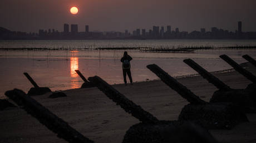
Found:
[[[0,27],[0,39],[256,39],[256,32],[243,32],[242,22],[237,22],[237,30],[229,31],[218,27],[211,27],[211,30],[200,28],[200,31],[186,32],[179,28],[172,28],[171,25],[153,25],[151,29],[134,29],[132,32],[125,30],[115,31],[93,31],[89,25],[84,25],[82,31],[78,30],[78,24],[63,24],[63,30],[39,29],[38,33],[15,32]]]

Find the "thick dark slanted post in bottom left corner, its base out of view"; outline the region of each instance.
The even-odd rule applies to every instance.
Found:
[[[83,142],[92,143],[90,139],[80,134],[80,132],[73,129],[61,118],[58,118],[50,110],[42,106],[36,100],[27,96],[22,90],[14,89],[6,91],[6,96],[12,99],[18,106],[26,110],[28,114],[32,115],[41,124],[45,125],[49,130],[55,132],[58,137],[72,143]]]

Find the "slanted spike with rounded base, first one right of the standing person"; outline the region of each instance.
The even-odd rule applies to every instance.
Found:
[[[157,65],[147,65],[147,68],[190,103],[182,109],[179,120],[193,121],[206,129],[231,129],[240,122],[248,121],[239,106],[232,103],[207,103]]]

